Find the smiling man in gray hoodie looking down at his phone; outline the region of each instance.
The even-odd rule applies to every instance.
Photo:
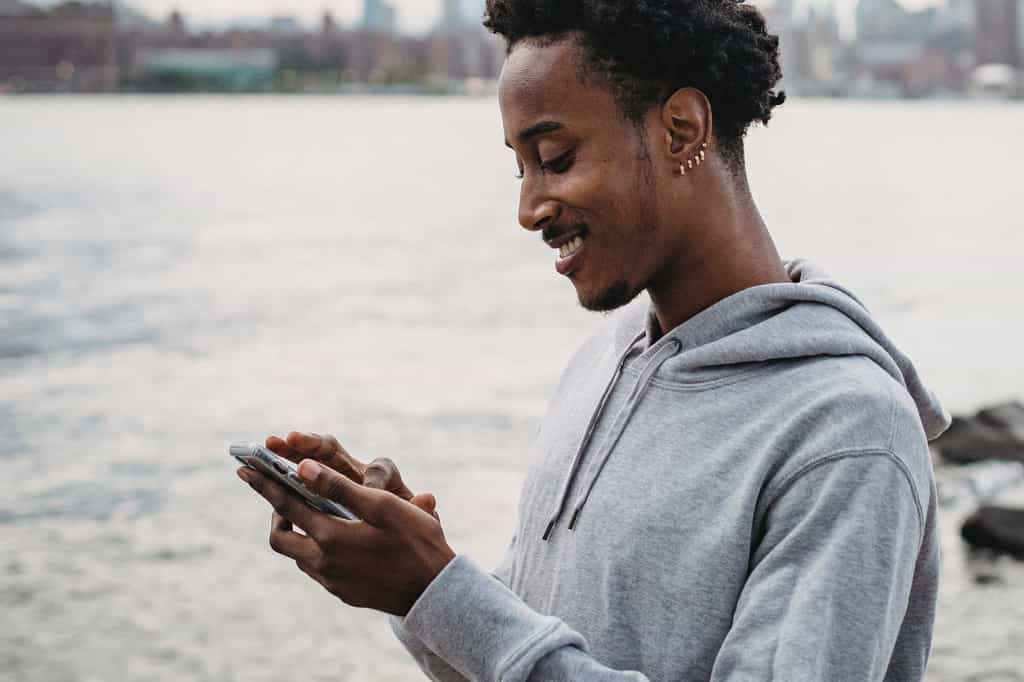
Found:
[[[242,470],[271,546],[393,614],[433,679],[921,679],[949,418],[755,206],[742,136],[783,99],[777,39],[731,0],[490,0],[486,25],[519,222],[583,306],[622,309],[562,375],[494,576],[393,464],[310,434],[267,444],[365,520]]]

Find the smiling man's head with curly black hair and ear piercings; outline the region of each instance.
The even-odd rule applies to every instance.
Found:
[[[625,305],[746,190],[742,136],[784,99],[778,39],[732,0],[488,0],[484,26],[508,42],[520,223],[548,241],[583,230],[562,267],[581,304]]]

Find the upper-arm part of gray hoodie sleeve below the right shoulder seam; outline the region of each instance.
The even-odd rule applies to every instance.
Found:
[[[712,680],[882,680],[901,636],[925,514],[909,469],[889,452],[825,457],[766,505],[762,537]],[[921,658],[901,679],[921,679]],[[904,636],[907,633],[902,633]]]

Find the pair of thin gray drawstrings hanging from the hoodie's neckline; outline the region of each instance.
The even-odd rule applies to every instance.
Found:
[[[554,529],[555,524],[558,522],[558,518],[561,516],[562,509],[565,507],[565,500],[568,497],[569,488],[572,486],[572,481],[575,478],[575,474],[580,468],[580,463],[582,460],[582,455],[593,435],[594,426],[598,421],[601,413],[604,411],[605,402],[607,401],[608,395],[611,393],[611,388],[614,386],[615,382],[618,380],[622,374],[623,366],[626,363],[626,357],[629,355],[630,350],[633,345],[644,335],[646,331],[638,334],[633,341],[627,346],[626,352],[618,360],[618,366],[615,369],[614,375],[611,377],[611,381],[608,383],[607,387],[604,389],[604,395],[601,396],[601,401],[598,404],[597,410],[594,412],[594,416],[591,418],[590,424],[587,427],[587,433],[584,436],[583,442],[580,444],[580,449],[577,451],[575,458],[572,460],[572,466],[569,469],[569,474],[565,479],[565,483],[562,485],[562,493],[558,500],[558,507],[555,509],[555,513],[552,514],[551,520],[548,522],[548,527],[544,532],[544,540],[547,540],[551,536],[551,531]],[[583,510],[585,504],[587,504],[587,499],[590,497],[590,493],[597,482],[598,476],[601,475],[601,470],[604,469],[604,465],[607,463],[608,458],[611,456],[611,451],[614,449],[615,443],[618,442],[620,436],[626,429],[626,425],[629,423],[630,417],[633,415],[633,411],[636,406],[640,402],[644,393],[647,391],[647,387],[650,385],[651,379],[657,372],[657,369],[670,357],[677,355],[683,348],[683,344],[678,339],[670,339],[662,348],[654,353],[653,356],[644,366],[644,369],[640,373],[640,377],[637,379],[636,383],[633,385],[633,390],[630,392],[630,396],[620,411],[615,415],[615,419],[612,422],[611,428],[608,434],[601,441],[597,453],[591,461],[590,467],[587,469],[586,478],[588,482],[583,486],[583,491],[580,497],[577,498],[575,506],[572,510],[572,518],[569,521],[569,529],[575,528],[577,519],[580,517],[580,512]]]

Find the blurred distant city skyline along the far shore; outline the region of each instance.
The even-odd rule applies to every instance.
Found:
[[[0,92],[455,92],[471,81],[478,91],[499,76],[504,58],[503,42],[479,27],[483,0],[421,0],[421,11],[434,11],[421,15],[418,30],[407,17],[406,31],[395,19],[409,0],[355,0],[356,11],[335,5],[328,16],[272,8],[227,18],[211,14],[209,4],[198,16],[187,6],[183,16],[148,9],[158,24],[137,8],[119,17],[93,4],[104,0],[58,12],[20,11],[19,1],[0,23]],[[1017,71],[1024,65],[1024,0],[944,0],[924,11],[900,0],[761,6],[779,36],[779,87],[790,95],[1024,96]]]

